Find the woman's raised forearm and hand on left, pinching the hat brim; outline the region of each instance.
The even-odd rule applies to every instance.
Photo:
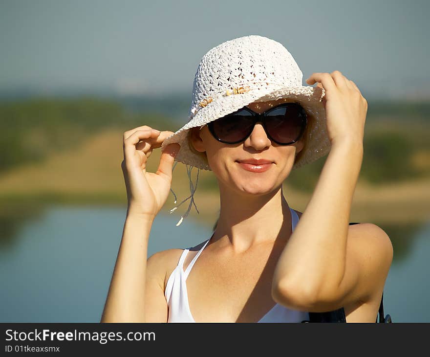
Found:
[[[145,322],[148,241],[152,222],[169,196],[178,144],[168,145],[156,173],[146,171],[152,149],[172,132],[142,126],[124,133],[121,167],[128,208],[101,322]],[[161,295],[160,295],[161,296]]]

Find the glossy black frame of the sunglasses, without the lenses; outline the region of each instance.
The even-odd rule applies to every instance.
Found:
[[[266,117],[267,117],[267,114],[269,114],[270,112],[272,112],[272,111],[274,111],[274,110],[276,110],[276,109],[279,109],[279,108],[288,108],[288,107],[290,107],[291,106],[291,104],[295,104],[295,105],[299,105],[300,107],[301,107],[301,111],[302,111],[302,123],[301,123],[301,130],[300,130],[300,134],[299,134],[299,136],[296,138],[296,140],[293,140],[293,141],[290,141],[290,142],[288,142],[288,143],[281,143],[281,142],[279,142],[279,141],[277,141],[277,140],[275,140],[268,132],[267,132],[267,130],[266,130]],[[218,119],[221,119],[221,118],[224,118],[224,116],[223,117],[221,117],[221,118],[218,118],[218,119],[216,119],[216,120],[214,120],[214,121],[211,121],[211,122],[209,122],[208,124],[207,124],[207,126],[208,126],[208,129],[209,129],[209,131],[211,132],[211,134],[212,134],[212,136],[216,139],[216,140],[218,140],[219,142],[222,142],[222,143],[224,143],[224,144],[238,144],[238,143],[241,143],[241,142],[243,142],[243,141],[245,141],[248,137],[249,137],[249,135],[251,135],[251,133],[253,132],[253,130],[254,130],[254,127],[255,127],[255,125],[257,124],[257,123],[261,123],[262,124],[262,126],[263,126],[263,129],[264,129],[264,131],[265,131],[265,133],[266,133],[266,135],[267,135],[267,137],[270,139],[270,140],[272,140],[272,141],[274,141],[274,142],[276,142],[278,145],[291,145],[291,144],[294,144],[295,142],[297,142],[297,141],[299,141],[300,139],[301,139],[301,136],[303,135],[303,133],[304,133],[304,131],[305,131],[305,129],[306,129],[306,126],[307,126],[307,114],[306,114],[306,111],[304,110],[304,108],[299,104],[299,103],[293,103],[293,102],[289,102],[289,103],[281,103],[280,105],[278,105],[278,106],[276,106],[276,107],[273,107],[273,108],[270,108],[270,109],[268,109],[267,111],[265,111],[265,112],[262,112],[262,113],[256,113],[256,112],[254,112],[254,111],[252,111],[251,109],[249,109],[249,108],[246,108],[246,107],[243,107],[243,108],[240,108],[240,109],[238,109],[236,112],[232,112],[232,113],[230,113],[230,114],[227,114],[227,115],[234,115],[234,114],[236,114],[236,113],[238,113],[238,112],[240,112],[240,111],[243,111],[243,110],[245,110],[245,111],[247,111],[247,112],[249,112],[249,113],[251,113],[252,114],[252,116],[253,116],[253,119],[254,119],[254,124],[253,124],[253,126],[251,127],[251,131],[243,138],[243,139],[241,139],[241,140],[237,140],[237,141],[235,141],[235,142],[226,142],[226,141],[224,141],[224,140],[221,140],[219,137],[217,137],[216,136],[216,134],[215,134],[215,131],[214,131],[214,122],[216,121],[216,120],[218,120]],[[227,116],[227,115],[225,115],[225,116]],[[201,126],[200,127],[200,130],[202,129],[204,127],[204,125],[203,126]]]

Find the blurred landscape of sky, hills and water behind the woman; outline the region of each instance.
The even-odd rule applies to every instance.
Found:
[[[338,69],[367,99],[350,222],[375,223],[393,243],[385,312],[430,322],[429,10],[425,0],[2,0],[0,321],[100,321],[126,218],[122,133],[178,130],[202,56],[261,35],[291,52],[303,79]],[[292,208],[303,212],[325,158],[284,182]],[[154,150],[150,171],[158,161]],[[149,255],[212,234],[217,184],[199,175],[199,213],[177,227],[189,201],[170,215],[171,194]],[[190,194],[183,164],[172,189],[178,202]]]

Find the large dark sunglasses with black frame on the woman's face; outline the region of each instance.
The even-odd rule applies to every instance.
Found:
[[[237,144],[251,135],[257,123],[262,123],[270,140],[279,145],[291,145],[300,140],[304,133],[307,115],[298,103],[282,103],[263,113],[243,107],[207,125],[216,140],[225,144]]]

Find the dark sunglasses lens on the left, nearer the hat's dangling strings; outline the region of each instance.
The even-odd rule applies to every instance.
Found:
[[[227,143],[234,143],[243,140],[251,133],[253,124],[252,114],[241,110],[216,119],[212,122],[212,128],[217,138]]]

